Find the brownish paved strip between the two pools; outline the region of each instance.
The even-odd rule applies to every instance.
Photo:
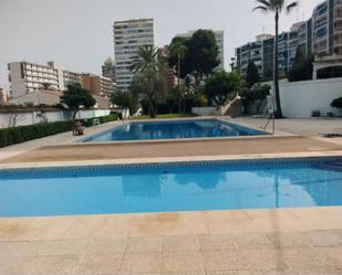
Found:
[[[121,144],[80,144],[45,146],[12,158],[11,162],[110,160],[134,158],[173,158],[196,156],[262,155],[289,152],[342,152],[342,144],[332,144],[307,137],[258,137],[245,139],[153,141]]]

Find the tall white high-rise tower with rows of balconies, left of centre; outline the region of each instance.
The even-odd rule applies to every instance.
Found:
[[[154,46],[154,20],[137,19],[114,22],[115,80],[118,89],[126,91],[134,74],[129,66],[143,45]]]

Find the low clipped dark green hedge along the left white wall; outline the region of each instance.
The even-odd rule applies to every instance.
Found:
[[[105,124],[117,120],[117,115],[113,114],[97,118],[101,124]],[[93,126],[93,118],[84,120],[83,125],[86,127]],[[73,121],[55,121],[0,129],[0,148],[37,138],[71,131]]]

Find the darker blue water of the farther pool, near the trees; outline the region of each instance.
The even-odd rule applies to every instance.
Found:
[[[217,138],[266,135],[267,133],[218,119],[127,123],[86,138],[84,142]]]

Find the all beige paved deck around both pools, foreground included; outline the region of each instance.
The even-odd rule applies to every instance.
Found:
[[[319,133],[339,130],[342,121],[334,120],[329,128],[322,120],[323,129],[320,123],[310,128],[310,123],[298,120],[282,128],[300,130],[304,124],[309,137],[147,142],[121,149],[71,146],[74,139],[62,134],[0,150],[0,168],[342,156],[341,139],[318,138]],[[298,130],[292,134],[303,134]],[[39,149],[45,145],[52,147]],[[342,274],[342,208],[0,219],[0,274],[338,275]]]

